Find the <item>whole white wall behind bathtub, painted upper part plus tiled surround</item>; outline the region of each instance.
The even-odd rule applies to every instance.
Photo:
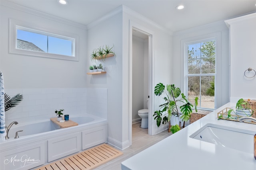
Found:
[[[78,115],[107,118],[107,89],[86,89],[87,31],[85,25],[55,18],[12,3],[0,6],[0,70],[6,94],[23,95],[23,101],[6,111],[6,124],[56,117],[55,109]],[[8,53],[9,18],[33,23],[34,27],[60,30],[79,37],[79,61],[66,61]],[[98,106],[100,105],[100,107]]]

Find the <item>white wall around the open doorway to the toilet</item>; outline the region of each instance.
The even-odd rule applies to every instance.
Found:
[[[154,96],[154,86],[158,82],[164,84],[170,83],[171,73],[170,73],[170,61],[172,53],[172,36],[171,33],[167,32],[165,29],[157,25],[156,23],[148,20],[144,16],[136,12],[132,12],[129,8],[123,7],[123,143],[124,146],[130,142],[129,133],[131,133],[131,126],[129,124],[131,119],[129,117],[129,33],[130,25],[139,27],[142,31],[152,34],[152,89],[150,90],[150,100],[152,100],[153,106],[149,108],[149,134],[154,135],[162,131],[162,128],[156,126],[156,121],[153,119],[153,114],[159,106],[159,100],[162,98],[155,98]]]

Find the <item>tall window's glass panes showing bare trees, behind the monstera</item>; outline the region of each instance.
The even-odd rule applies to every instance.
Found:
[[[196,96],[198,107],[214,109],[216,77],[216,39],[204,39],[185,44],[186,93],[189,99]],[[193,101],[190,101],[192,104]]]

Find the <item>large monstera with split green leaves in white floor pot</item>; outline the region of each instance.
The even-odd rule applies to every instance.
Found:
[[[156,96],[160,96],[165,90],[165,86],[162,83],[158,83],[155,86],[154,94]],[[154,112],[154,119],[156,120],[156,125],[159,127],[161,122],[162,124],[169,123],[169,129],[168,132],[172,131],[172,133],[176,133],[180,130],[180,126],[171,125],[170,120],[171,117],[178,117],[178,119],[182,119],[182,121],[188,121],[191,113],[193,105],[186,99],[186,96],[180,91],[180,88],[176,88],[174,84],[166,85],[166,96],[164,97],[164,104],[161,104],[160,110]],[[181,95],[181,98],[179,98]],[[197,100],[198,97],[195,99],[195,110],[197,112]],[[177,107],[178,103],[181,103],[182,105],[179,106],[179,109]],[[164,117],[162,117],[162,114],[164,113]],[[183,125],[184,126],[184,125]]]

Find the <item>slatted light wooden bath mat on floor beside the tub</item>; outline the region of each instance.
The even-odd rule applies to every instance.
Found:
[[[35,170],[91,170],[123,153],[107,144],[98,145]]]

